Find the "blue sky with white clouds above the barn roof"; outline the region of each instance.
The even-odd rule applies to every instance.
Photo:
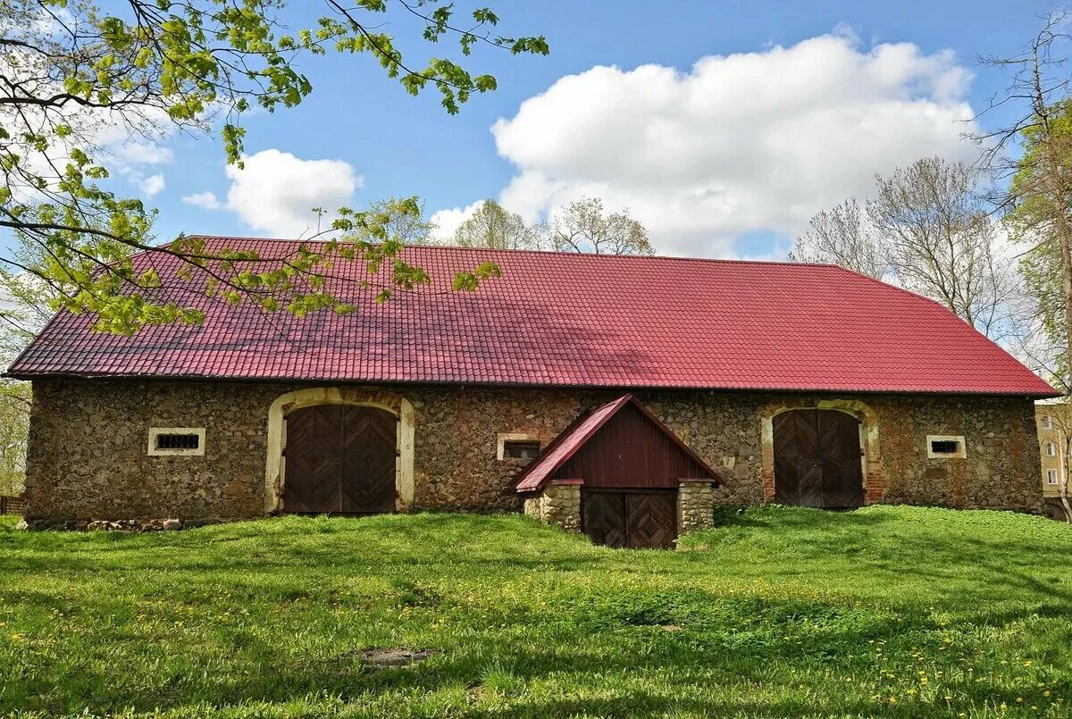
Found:
[[[314,92],[300,107],[247,119],[248,153],[266,153],[259,176],[236,182],[214,138],[178,137],[167,141],[169,153],[134,166],[128,191],[155,190],[145,194],[160,209],[162,239],[293,233],[293,221],[268,219],[285,204],[279,198],[288,188],[315,195],[323,182],[317,204],[417,194],[429,213],[448,210],[438,215],[447,225],[483,197],[535,218],[574,196],[600,194],[612,209],[628,207],[664,252],[778,256],[810,213],[865,194],[874,171],[921,154],[966,156],[957,137],[968,126],[950,118],[981,109],[1004,84],[977,57],[1015,51],[1053,8],[1011,4],[497,2],[505,33],[546,34],[551,55],[481,50],[472,64],[495,74],[500,89],[460,115],[443,111],[433,92],[405,94],[369,58],[310,59],[302,70]],[[425,51],[415,26],[392,21],[389,30],[415,55]],[[823,36],[833,40],[815,42]],[[900,49],[883,55],[883,45]],[[740,54],[750,61],[726,61]],[[694,71],[711,56],[723,61]],[[850,64],[855,73],[843,72]],[[597,65],[619,71],[590,72]],[[641,65],[660,68],[649,80],[631,74]],[[570,75],[581,79],[519,115],[523,102]],[[744,95],[718,96],[742,83]],[[644,96],[630,95],[636,88]],[[496,146],[492,126],[501,118]],[[336,162],[301,164],[318,160]],[[154,176],[162,190],[159,180],[146,183]]]

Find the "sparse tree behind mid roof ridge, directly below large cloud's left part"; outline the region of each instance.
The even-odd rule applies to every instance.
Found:
[[[544,233],[560,252],[597,255],[654,255],[647,230],[628,210],[606,212],[598,197],[582,197],[559,209]]]

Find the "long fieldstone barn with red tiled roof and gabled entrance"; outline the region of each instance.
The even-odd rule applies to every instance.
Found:
[[[262,267],[292,241],[208,238]],[[666,545],[713,503],[1038,511],[1044,381],[937,303],[823,265],[415,246],[430,287],[304,318],[208,298],[199,327],[57,315],[33,383],[31,525],[522,508]],[[502,276],[451,291],[455,272]]]

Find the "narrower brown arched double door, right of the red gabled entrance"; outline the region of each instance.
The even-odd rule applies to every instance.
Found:
[[[860,422],[833,409],[774,418],[774,500],[847,509],[864,501]]]

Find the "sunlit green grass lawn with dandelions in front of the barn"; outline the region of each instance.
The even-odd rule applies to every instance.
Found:
[[[516,515],[4,518],[0,714],[1072,715],[1067,525],[769,507],[684,543],[614,551]]]

